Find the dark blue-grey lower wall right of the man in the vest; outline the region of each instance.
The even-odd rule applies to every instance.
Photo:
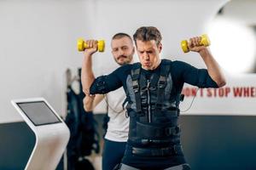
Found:
[[[256,116],[181,116],[180,122],[192,169],[256,169]]]

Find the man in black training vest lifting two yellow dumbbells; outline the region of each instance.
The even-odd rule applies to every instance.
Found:
[[[180,142],[178,105],[183,83],[199,88],[219,88],[224,76],[210,51],[200,46],[201,37],[189,40],[189,50],[200,54],[207,65],[197,69],[182,61],[160,59],[160,31],[143,26],[133,35],[140,63],[124,65],[108,76],[94,77],[91,55],[84,55],[82,81],[87,94],[107,94],[125,89],[130,116],[129,138],[121,170],[185,170]],[[96,42],[90,44],[96,52]]]

